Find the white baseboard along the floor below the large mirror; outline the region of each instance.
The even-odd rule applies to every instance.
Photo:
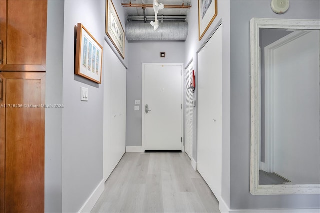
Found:
[[[279,208],[279,209],[236,209],[236,210],[229,210],[231,213],[319,213],[318,209],[296,209],[296,208]],[[221,211],[222,212],[222,211]]]

